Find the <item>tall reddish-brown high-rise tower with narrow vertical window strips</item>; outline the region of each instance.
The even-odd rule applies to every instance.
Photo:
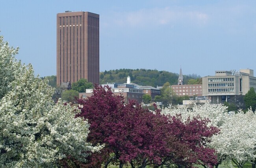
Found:
[[[99,15],[57,14],[57,85],[87,79],[99,83]]]

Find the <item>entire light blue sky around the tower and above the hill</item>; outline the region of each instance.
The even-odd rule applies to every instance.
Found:
[[[100,71],[256,76],[255,0],[0,0],[0,35],[41,77],[56,75],[56,15],[67,10],[100,15]]]

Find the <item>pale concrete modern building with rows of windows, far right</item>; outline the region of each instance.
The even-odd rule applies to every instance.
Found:
[[[202,95],[212,103],[236,101],[239,95],[245,95],[250,88],[256,90],[256,77],[252,69],[240,71],[215,71],[215,76],[202,78]]]

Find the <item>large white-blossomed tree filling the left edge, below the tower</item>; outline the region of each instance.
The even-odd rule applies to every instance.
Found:
[[[17,62],[17,51],[0,37],[0,167],[58,167],[66,157],[85,162],[103,146],[86,141],[88,122],[74,118],[76,107],[55,104],[54,89]]]

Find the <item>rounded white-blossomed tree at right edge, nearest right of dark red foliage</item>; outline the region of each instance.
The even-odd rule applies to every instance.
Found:
[[[252,161],[255,166],[256,115],[252,110],[230,115],[220,129],[221,132],[214,135],[210,143],[220,159],[231,159],[241,168],[247,161]]]

